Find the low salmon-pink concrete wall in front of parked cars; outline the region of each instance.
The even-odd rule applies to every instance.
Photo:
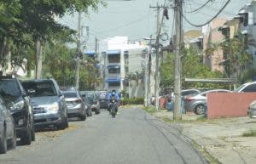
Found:
[[[247,116],[248,106],[256,100],[256,93],[209,93],[207,117]]]

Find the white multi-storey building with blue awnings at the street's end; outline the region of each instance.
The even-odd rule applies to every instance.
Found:
[[[129,97],[144,96],[144,50],[141,42],[129,42],[128,37],[112,37],[99,44],[99,68],[104,82],[102,89],[125,91]]]

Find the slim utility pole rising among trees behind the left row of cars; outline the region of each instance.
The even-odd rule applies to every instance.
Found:
[[[79,78],[80,78],[80,57],[81,57],[81,12],[79,11],[78,16],[78,42],[77,42],[77,54],[76,54],[76,76],[75,76],[75,82],[76,82],[76,88],[79,89]]]

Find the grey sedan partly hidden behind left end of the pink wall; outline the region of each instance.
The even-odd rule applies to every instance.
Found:
[[[228,93],[232,92],[226,89],[213,89],[208,90],[203,93],[199,93],[195,96],[189,96],[184,99],[184,109],[186,111],[192,110],[197,115],[202,115],[205,113],[206,105],[207,105],[207,94],[208,93]]]

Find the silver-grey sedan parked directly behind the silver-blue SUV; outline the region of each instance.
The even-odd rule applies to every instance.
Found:
[[[78,116],[82,121],[86,119],[86,109],[84,100],[76,89],[63,91],[67,103],[67,116]]]

